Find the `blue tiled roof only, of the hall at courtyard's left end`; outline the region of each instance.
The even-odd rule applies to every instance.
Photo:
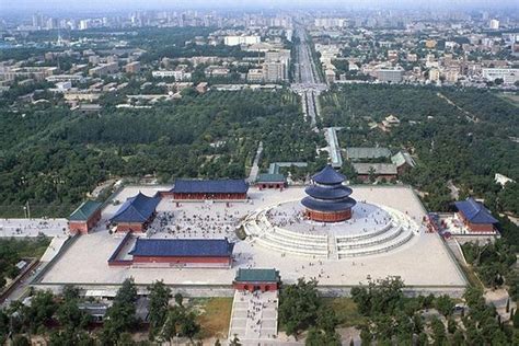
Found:
[[[112,217],[112,222],[145,222],[155,211],[160,197],[148,197],[139,192],[134,197],[126,199],[117,212]]]

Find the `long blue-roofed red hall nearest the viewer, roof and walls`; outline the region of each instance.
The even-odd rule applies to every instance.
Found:
[[[129,254],[134,266],[229,268],[233,249],[227,239],[138,238]]]

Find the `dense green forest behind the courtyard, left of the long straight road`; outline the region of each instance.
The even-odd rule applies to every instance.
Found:
[[[245,177],[264,142],[265,161],[314,161],[322,141],[282,92],[187,91],[152,108],[70,112],[59,100],[0,112],[3,215],[65,216],[100,182],[154,175]]]

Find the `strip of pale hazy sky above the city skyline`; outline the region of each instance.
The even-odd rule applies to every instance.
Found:
[[[518,0],[0,0],[2,11],[92,11],[174,8],[519,8]]]

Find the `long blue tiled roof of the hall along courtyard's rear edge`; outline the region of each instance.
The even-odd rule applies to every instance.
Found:
[[[246,194],[249,184],[244,180],[176,180],[171,191],[181,194]]]

